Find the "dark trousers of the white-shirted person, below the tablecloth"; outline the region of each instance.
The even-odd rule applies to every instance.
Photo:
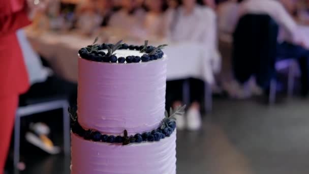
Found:
[[[188,80],[190,86],[190,103],[202,103],[204,98],[204,82],[196,78],[172,80],[166,82],[166,108],[172,106],[175,101],[183,101],[182,88],[184,80]]]

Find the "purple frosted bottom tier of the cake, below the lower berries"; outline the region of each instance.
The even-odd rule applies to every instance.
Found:
[[[85,140],[71,133],[71,174],[176,173],[176,131],[158,142],[127,146]]]

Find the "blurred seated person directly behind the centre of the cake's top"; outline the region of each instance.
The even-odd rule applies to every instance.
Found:
[[[121,9],[115,12],[108,22],[108,26],[122,28],[123,30],[134,30],[142,28],[144,23],[144,10],[139,6],[137,0],[120,0]]]

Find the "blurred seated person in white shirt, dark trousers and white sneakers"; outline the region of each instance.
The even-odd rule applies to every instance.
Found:
[[[213,60],[220,59],[216,53],[217,23],[215,12],[211,8],[198,5],[196,0],[182,0],[181,2],[180,7],[168,11],[168,40],[171,42],[198,42],[204,45],[205,55],[213,56]],[[179,117],[177,118],[177,127],[183,129],[186,125],[190,130],[197,130],[201,127],[200,103],[204,84],[203,81],[197,79],[190,79],[189,81],[191,105],[188,107],[187,122],[184,121],[184,118]],[[167,82],[167,94],[173,95],[167,96],[167,98],[171,98],[173,107],[181,104],[182,82],[183,80]]]

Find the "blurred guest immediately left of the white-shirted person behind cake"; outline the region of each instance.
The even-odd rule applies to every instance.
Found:
[[[164,0],[146,0],[145,5],[148,9],[145,17],[144,28],[148,35],[157,38],[163,38],[166,36],[166,16],[163,12]]]

